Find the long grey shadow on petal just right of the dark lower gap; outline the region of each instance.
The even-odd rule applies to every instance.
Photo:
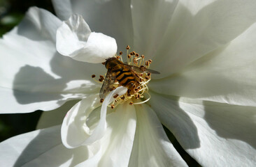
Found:
[[[178,97],[152,93],[150,105],[162,124],[176,136],[183,149],[200,148],[197,127],[183,109],[180,109]]]

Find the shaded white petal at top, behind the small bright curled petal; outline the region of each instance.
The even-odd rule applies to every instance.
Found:
[[[64,18],[66,11],[72,11],[83,15],[87,24],[93,31],[109,35],[118,43],[118,47],[124,51],[127,45],[133,45],[133,28],[131,22],[130,1],[73,1],[52,0],[55,11],[60,18]],[[61,8],[60,6],[64,6]],[[69,19],[65,17],[64,19]]]

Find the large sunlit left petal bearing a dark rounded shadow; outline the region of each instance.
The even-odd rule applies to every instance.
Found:
[[[99,91],[91,75],[100,74],[103,65],[57,53],[55,35],[60,25],[55,15],[34,7],[0,39],[1,113],[52,110],[70,98]]]

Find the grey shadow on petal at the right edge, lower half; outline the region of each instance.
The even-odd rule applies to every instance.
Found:
[[[256,107],[204,102],[205,120],[222,138],[244,141],[256,149]]]

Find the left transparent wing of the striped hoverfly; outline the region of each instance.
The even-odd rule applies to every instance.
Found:
[[[115,72],[111,72],[111,70],[108,69],[104,83],[102,84],[101,90],[99,91],[99,97],[101,99],[105,99],[106,95],[108,95],[108,93],[113,89],[113,85],[115,84],[115,77]]]

